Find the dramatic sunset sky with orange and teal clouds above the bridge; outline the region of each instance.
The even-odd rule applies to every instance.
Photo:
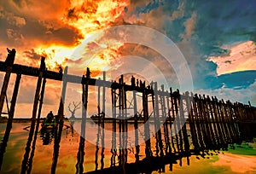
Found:
[[[158,75],[162,73],[175,89],[180,79],[174,70],[179,67],[166,64],[163,55],[147,45],[125,43],[126,31],[118,33],[124,40],[102,32],[113,26],[146,26],[171,39],[180,50],[193,79],[194,93],[232,102],[250,101],[256,106],[255,16],[254,0],[1,1],[0,61],[7,56],[6,48],[14,48],[15,63],[38,67],[40,57],[45,56],[49,70],[68,66],[69,73],[79,75],[87,66],[94,78],[101,77],[102,70],[115,72],[107,78],[116,79],[119,69],[132,73],[132,68],[140,68],[138,77],[161,79]],[[148,42],[157,39],[148,33],[143,36]],[[131,60],[131,55],[135,59]],[[3,76],[0,73],[1,86]],[[21,78],[17,117],[31,116],[36,81]],[[12,75],[9,101],[14,82]],[[48,80],[46,90],[43,115],[49,110],[57,112],[61,83]],[[68,84],[67,103],[79,101],[73,96],[80,94],[80,86]]]

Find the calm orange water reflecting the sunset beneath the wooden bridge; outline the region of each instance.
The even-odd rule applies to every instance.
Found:
[[[108,131],[102,142],[102,133],[97,134],[94,124],[86,124],[85,136],[88,141],[85,140],[84,143],[79,135],[80,130],[71,129],[69,122],[64,123],[59,143],[55,139],[54,131],[40,131],[41,126],[39,126],[36,136],[34,136],[35,134],[29,136],[30,128],[25,130],[24,128],[30,125],[31,123],[13,124],[5,151],[3,151],[4,148],[1,151],[3,161],[0,173],[20,173],[22,161],[27,164],[26,171],[31,171],[31,173],[50,173],[53,168],[56,173],[76,173],[77,171],[86,173],[118,166],[119,159],[122,157],[128,164],[136,162],[136,154],[138,154],[139,160],[146,157],[145,143],[140,144],[139,152],[137,152],[136,148],[132,146],[134,142],[132,137],[126,139],[126,150],[122,151],[119,148],[112,150],[113,144],[111,143],[113,141],[108,137]],[[79,123],[75,123],[73,127],[79,128]],[[5,129],[6,124],[0,124],[1,139],[3,139]],[[112,130],[112,124],[106,123],[105,129]],[[132,129],[133,125],[128,125],[128,130]],[[142,132],[139,132],[139,136],[143,137]],[[164,136],[162,138],[164,139]],[[107,148],[96,147],[96,144],[101,146],[102,143],[107,144],[105,146]],[[157,150],[160,150],[155,148],[155,143],[155,137],[152,136],[150,150],[154,156]],[[3,147],[3,142],[1,146]],[[119,147],[119,137],[116,138],[116,146]],[[163,150],[165,150],[165,144],[163,146]],[[190,146],[192,148],[191,143]],[[125,155],[121,155],[123,152]],[[164,165],[161,167],[161,171],[162,173],[256,173],[256,142],[244,142],[241,145],[236,145],[235,149],[229,148],[224,152],[210,151],[204,157],[191,155],[189,158],[178,159],[177,164],[170,162],[170,164]],[[159,171],[152,173],[159,173]]]

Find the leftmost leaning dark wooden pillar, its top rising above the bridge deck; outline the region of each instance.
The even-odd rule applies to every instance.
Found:
[[[7,55],[7,58],[5,61],[7,68],[6,68],[5,76],[3,78],[3,86],[0,94],[0,116],[3,112],[3,103],[6,97],[6,91],[8,89],[9,78],[13,69],[13,64],[15,62],[15,54],[16,54],[15,49],[12,49],[11,51],[9,50],[9,54]]]

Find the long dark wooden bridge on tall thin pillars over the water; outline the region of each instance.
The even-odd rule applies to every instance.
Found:
[[[9,86],[9,78],[11,73],[16,74],[15,88],[11,100],[11,105],[8,113],[8,125],[3,137],[3,144],[1,146],[0,165],[3,163],[3,154],[9,139],[11,125],[15,116],[15,104],[18,96],[20,78],[21,76],[33,76],[38,78],[36,91],[32,109],[32,123],[30,134],[26,144],[26,153],[22,162],[21,173],[26,173],[31,170],[29,160],[32,157],[35,145],[36,136],[38,134],[39,119],[41,117],[41,110],[44,101],[44,90],[46,79],[53,79],[62,81],[62,90],[60,105],[58,109],[58,126],[55,128],[55,146],[53,154],[53,163],[51,171],[55,173],[55,168],[58,161],[59,144],[61,142],[61,132],[63,129],[64,106],[67,83],[81,84],[82,87],[82,122],[81,122],[81,137],[79,142],[77,170],[79,173],[83,172],[84,162],[84,136],[86,133],[87,107],[89,101],[89,86],[94,85],[98,87],[97,97],[97,124],[99,125],[98,135],[103,135],[102,138],[97,136],[97,141],[102,140],[104,146],[104,125],[106,113],[106,90],[111,90],[112,103],[112,129],[113,141],[112,148],[115,149],[116,155],[119,154],[119,166],[110,166],[110,168],[103,169],[101,172],[113,170],[113,167],[118,167],[119,170],[131,170],[130,167],[136,165],[134,170],[144,172],[143,165],[147,165],[148,161],[157,161],[161,167],[165,164],[171,164],[173,161],[183,157],[189,157],[191,154],[204,155],[206,150],[226,149],[228,144],[241,142],[242,140],[249,140],[255,137],[255,121],[256,108],[250,105],[241,104],[239,102],[230,102],[218,100],[217,97],[194,95],[189,92],[180,94],[179,90],[172,91],[165,90],[161,85],[160,89],[156,82],[146,85],[145,82],[136,83],[135,78],[131,78],[131,84],[125,84],[124,77],[121,76],[118,82],[106,81],[106,73],[103,73],[103,79],[90,78],[90,69],[87,68],[86,74],[82,77],[67,74],[67,67],[64,72],[49,71],[45,67],[44,57],[41,59],[40,67],[26,67],[14,64],[15,49],[9,51],[6,61],[0,61],[0,71],[5,72],[3,79],[3,86],[0,96],[0,113],[3,112],[3,104],[6,98],[6,91]],[[127,102],[127,94],[131,94],[132,100]],[[138,96],[137,94],[140,94]],[[140,98],[139,98],[140,97]],[[141,102],[137,102],[141,101]],[[138,110],[139,103],[142,104],[142,111]],[[125,149],[127,147],[127,135],[122,138],[119,137],[117,142],[115,135],[127,132],[127,110],[132,109],[132,119],[129,122],[134,125],[135,130],[135,144],[136,144],[136,161],[134,164],[127,164],[125,156]],[[152,110],[150,113],[149,110]],[[154,131],[156,138],[157,151],[154,155],[151,148],[149,125],[144,124],[145,136],[145,154],[146,159],[141,161],[138,158],[140,151],[138,144],[138,122],[139,117],[143,118],[143,123],[148,120],[154,120]],[[189,131],[188,126],[189,125]],[[124,134],[125,135],[125,134]],[[164,135],[164,136],[163,136]],[[191,143],[193,144],[191,148]],[[119,145],[118,145],[119,144]],[[123,147],[120,148],[120,147]],[[117,153],[119,148],[119,153]],[[99,150],[99,148],[97,148]],[[104,148],[102,148],[104,153]],[[113,150],[114,151],[114,150]],[[96,157],[97,158],[97,157]],[[141,166],[141,167],[140,167]],[[163,170],[163,169],[161,169]],[[98,171],[92,171],[98,172]],[[146,172],[146,171],[145,171]],[[149,171],[147,171],[149,172]]]

